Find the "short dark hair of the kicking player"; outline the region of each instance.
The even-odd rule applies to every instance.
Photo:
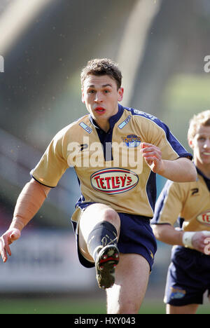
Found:
[[[85,78],[87,78],[90,74],[96,76],[109,75],[116,80],[118,89],[121,87],[122,73],[120,69],[118,69],[118,64],[113,62],[113,60],[108,58],[96,58],[94,60],[89,60],[87,65],[81,71],[80,78],[82,87],[84,85]]]

